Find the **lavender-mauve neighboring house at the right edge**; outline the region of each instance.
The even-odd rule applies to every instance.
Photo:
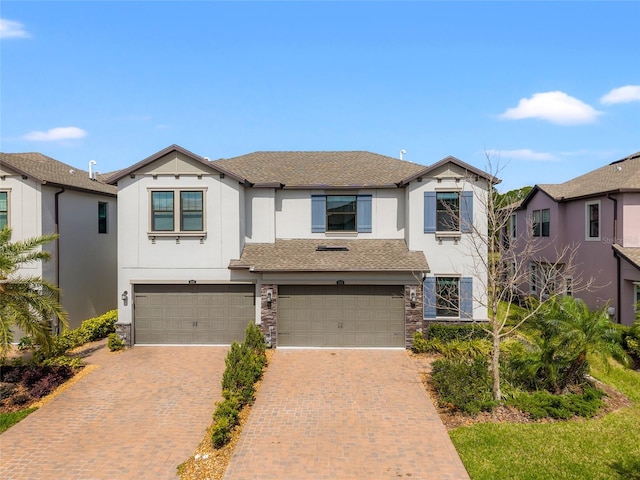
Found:
[[[575,288],[589,307],[607,305],[612,321],[633,323],[640,302],[640,152],[565,183],[536,185],[512,215],[512,240],[524,228],[533,228],[548,262],[556,250],[577,247],[582,282],[593,279],[599,288],[580,292],[575,279],[558,282],[568,294]],[[544,262],[530,268],[529,292],[539,294],[536,270]]]

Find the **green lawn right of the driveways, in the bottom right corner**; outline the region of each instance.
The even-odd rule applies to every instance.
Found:
[[[473,480],[640,480],[640,373],[593,361],[593,375],[632,407],[571,422],[477,424],[450,432]]]

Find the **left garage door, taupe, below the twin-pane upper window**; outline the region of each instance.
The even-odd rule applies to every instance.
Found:
[[[253,285],[135,285],[136,344],[242,341],[255,318]]]

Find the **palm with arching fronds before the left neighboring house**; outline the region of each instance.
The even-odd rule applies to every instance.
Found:
[[[40,247],[57,238],[43,235],[11,242],[11,230],[0,230],[0,358],[4,359],[18,327],[47,352],[51,348],[51,321],[68,326],[67,313],[58,301],[60,290],[41,277],[27,276],[20,267],[47,261]]]

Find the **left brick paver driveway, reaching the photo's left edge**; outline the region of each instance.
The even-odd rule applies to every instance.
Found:
[[[0,435],[0,478],[176,478],[211,424],[227,349],[135,347]]]

